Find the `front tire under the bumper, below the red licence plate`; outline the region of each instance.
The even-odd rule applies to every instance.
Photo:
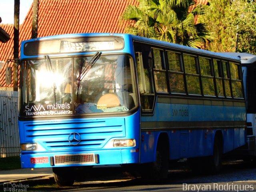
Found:
[[[66,168],[52,168],[54,180],[58,186],[72,186],[74,184],[74,177],[72,172]]]

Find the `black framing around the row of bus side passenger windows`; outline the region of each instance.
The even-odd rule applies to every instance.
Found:
[[[208,56],[206,54],[197,54],[195,52],[188,52],[187,50],[175,50],[174,48],[168,48],[166,46],[158,46],[158,45],[155,45],[155,44],[149,44],[149,43],[145,43],[145,42],[138,42],[140,43],[141,45],[143,45],[145,49],[150,49],[152,51],[152,49],[158,49],[158,50],[162,50],[162,54],[163,54],[163,57],[164,57],[164,64],[165,64],[165,69],[156,69],[154,67],[154,63],[152,62],[152,70],[151,70],[151,77],[152,77],[152,83],[153,83],[153,88],[154,88],[154,94],[155,94],[155,97],[157,98],[157,96],[180,96],[180,97],[188,97],[188,98],[219,98],[219,99],[222,99],[222,100],[240,100],[240,99],[243,99],[243,98],[235,98],[233,97],[233,94],[232,94],[232,87],[231,87],[231,78],[230,78],[230,66],[229,66],[229,62],[233,62],[235,64],[239,64],[238,61],[235,61],[235,60],[232,60],[232,59],[227,59],[227,58],[221,58],[221,57],[216,57],[216,56]],[[134,48],[136,49],[136,48]],[[180,72],[177,72],[177,71],[172,71],[172,70],[169,70],[169,64],[168,64],[168,52],[174,52],[174,53],[178,53],[180,54]],[[194,74],[194,73],[190,73],[190,72],[186,72],[185,70],[185,63],[184,63],[184,55],[189,55],[189,56],[192,56],[194,57],[195,59],[195,70],[197,72],[197,74]],[[207,76],[207,75],[204,75],[204,74],[201,74],[201,70],[200,70],[200,62],[199,62],[199,59],[200,57],[202,58],[206,58],[208,60],[210,60],[210,71],[211,71],[211,76]],[[214,60],[216,60],[219,64],[218,64],[218,74],[215,74],[216,73],[216,70],[215,70],[215,67],[214,67]],[[152,57],[152,61],[153,61],[153,57]],[[224,78],[224,70],[223,70],[223,62],[226,64],[226,72],[227,72],[227,76],[228,78]],[[168,92],[158,92],[156,91],[156,84],[155,84],[155,77],[154,77],[154,72],[155,71],[161,71],[161,72],[166,72],[166,82],[167,82],[167,87],[168,87]],[[242,72],[242,70],[240,70],[240,72]],[[169,75],[170,74],[179,74],[179,75],[182,75],[183,76],[183,80],[184,80],[184,89],[185,89],[185,92],[184,93],[175,93],[175,92],[172,92],[171,91],[171,88],[170,88],[170,78],[169,78]],[[241,75],[241,74],[240,74]],[[187,79],[186,77],[187,76],[195,76],[198,78],[198,87],[197,89],[200,90],[200,94],[189,94],[188,93],[188,84],[187,84]],[[213,86],[214,86],[214,95],[205,95],[204,94],[204,91],[203,91],[203,86],[202,86],[202,78],[204,77],[210,77],[212,78],[213,80]],[[222,82],[221,83],[221,87],[223,89],[223,96],[218,96],[217,94],[217,82],[216,80]],[[224,82],[229,82],[229,89],[230,89],[230,94],[231,96],[226,96],[226,89],[225,89],[225,84]],[[243,93],[243,96],[244,96],[244,93]],[[155,99],[156,100],[156,99]],[[154,101],[154,105],[155,105],[155,101]],[[152,110],[154,111],[154,110]]]

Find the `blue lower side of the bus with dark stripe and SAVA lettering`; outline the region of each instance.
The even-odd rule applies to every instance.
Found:
[[[145,128],[146,131],[142,129],[140,162],[155,160],[158,136],[164,132],[170,141],[170,160],[212,155],[216,131],[222,133],[223,153],[229,152],[246,144],[245,127],[234,126],[245,121],[245,106],[157,102],[154,115],[141,118],[142,124],[150,122],[152,126]]]

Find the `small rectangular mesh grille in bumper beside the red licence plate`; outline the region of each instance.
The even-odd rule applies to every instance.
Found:
[[[55,164],[86,164],[98,163],[98,156],[95,154],[56,155]]]

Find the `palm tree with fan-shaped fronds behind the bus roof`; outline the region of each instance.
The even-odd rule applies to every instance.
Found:
[[[206,24],[196,22],[205,14],[205,5],[194,0],[138,0],[129,5],[121,18],[130,23],[126,32],[195,48],[211,42],[213,33]]]

